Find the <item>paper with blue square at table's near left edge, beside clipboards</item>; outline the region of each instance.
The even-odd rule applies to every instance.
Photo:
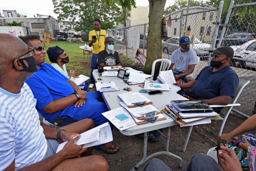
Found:
[[[119,108],[104,112],[102,113],[102,115],[105,116],[117,129],[121,131],[137,125],[135,121],[132,119],[129,112],[125,110],[123,107],[119,107]],[[120,116],[120,115],[123,115],[123,116]],[[120,116],[120,118],[118,119],[118,117],[116,116]],[[122,120],[121,118],[124,118],[124,117],[127,119]]]

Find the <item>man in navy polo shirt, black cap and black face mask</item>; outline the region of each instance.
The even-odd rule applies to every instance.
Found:
[[[209,52],[213,53],[210,66],[202,69],[195,80],[174,85],[192,88],[190,92],[181,93],[189,100],[200,99],[209,105],[227,105],[235,96],[239,82],[237,74],[229,65],[234,51],[229,46],[222,46]],[[221,109],[214,108],[214,111],[219,112]]]

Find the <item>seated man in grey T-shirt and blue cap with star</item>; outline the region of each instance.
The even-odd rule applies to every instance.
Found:
[[[188,36],[180,38],[180,48],[176,49],[171,56],[171,65],[169,70],[172,70],[175,80],[182,79],[185,83],[193,81],[195,65],[197,62],[196,52],[190,47]],[[175,65],[175,69],[173,66]]]

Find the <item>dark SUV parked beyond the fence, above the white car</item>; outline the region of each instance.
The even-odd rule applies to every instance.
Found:
[[[233,33],[223,38],[222,44],[224,46],[242,45],[249,40],[256,39],[256,34],[253,33]],[[220,39],[216,40],[215,47],[217,47]]]

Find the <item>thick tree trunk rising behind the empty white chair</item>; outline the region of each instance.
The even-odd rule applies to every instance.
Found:
[[[149,0],[147,60],[144,73],[151,74],[152,64],[162,58],[162,18],[166,0]],[[156,70],[159,71],[159,66]],[[155,72],[154,75],[158,75]]]

